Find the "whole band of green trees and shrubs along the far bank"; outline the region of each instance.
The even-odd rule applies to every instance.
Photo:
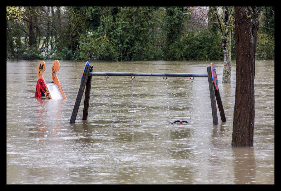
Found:
[[[191,9],[8,7],[7,59],[223,60],[214,7],[199,27],[188,27]],[[274,7],[259,7],[259,21],[256,58],[274,59]]]

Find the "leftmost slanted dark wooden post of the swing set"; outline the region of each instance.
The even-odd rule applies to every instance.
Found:
[[[86,65],[86,68],[84,70],[83,78],[82,78],[80,88],[79,88],[79,91],[78,91],[78,94],[77,94],[77,98],[76,98],[76,101],[75,101],[75,105],[74,105],[74,108],[73,108],[73,111],[72,111],[72,114],[71,114],[71,118],[70,118],[70,122],[69,122],[70,124],[75,123],[75,119],[76,119],[76,116],[77,116],[77,113],[78,113],[78,109],[79,109],[79,106],[80,106],[80,103],[81,103],[81,99],[82,99],[82,96],[83,96],[83,92],[84,92],[86,82],[88,80],[91,68],[93,68],[93,65]]]

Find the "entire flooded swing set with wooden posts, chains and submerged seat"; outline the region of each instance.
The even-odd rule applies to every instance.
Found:
[[[165,80],[165,90],[166,90],[166,100],[168,105],[168,114],[170,119],[170,124],[173,123],[190,123],[191,122],[191,106],[192,106],[192,82],[195,77],[208,77],[209,81],[209,89],[210,89],[210,98],[211,98],[211,108],[212,108],[212,115],[213,115],[213,124],[218,125],[218,116],[217,116],[217,109],[216,109],[216,101],[219,107],[219,114],[221,116],[221,120],[224,122],[226,121],[223,105],[221,102],[219,88],[218,88],[218,80],[214,68],[214,63],[211,63],[211,66],[207,67],[207,74],[191,74],[191,73],[141,73],[141,72],[92,72],[93,65],[90,65],[89,62],[86,62],[84,66],[84,70],[81,76],[80,81],[80,88],[77,94],[76,102],[72,111],[71,119],[69,123],[75,123],[76,116],[78,113],[78,109],[81,103],[81,99],[83,96],[83,92],[85,91],[85,99],[84,99],[84,109],[83,109],[83,117],[82,120],[87,120],[88,117],[88,108],[89,108],[89,100],[90,100],[90,92],[91,92],[91,79],[92,76],[104,76],[106,79],[106,89],[108,95],[108,104],[110,108],[110,115],[111,115],[111,122],[114,123],[111,111],[111,104],[110,104],[110,96],[108,90],[108,82],[107,79],[109,76],[131,76],[132,79],[132,121],[134,122],[134,79],[135,76],[161,76]],[[191,80],[191,88],[190,88],[190,120],[189,122],[186,120],[175,120],[172,122],[170,117],[170,108],[169,108],[169,100],[167,94],[167,82],[166,80],[168,77],[190,77]]]

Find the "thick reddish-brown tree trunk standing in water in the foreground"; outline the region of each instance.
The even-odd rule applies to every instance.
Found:
[[[231,145],[254,144],[254,74],[258,15],[256,7],[235,7],[236,91]]]

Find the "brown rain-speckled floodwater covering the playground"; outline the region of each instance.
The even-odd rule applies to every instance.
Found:
[[[53,61],[45,61],[46,82]],[[250,148],[231,147],[235,61],[231,84],[222,84],[222,61],[90,61],[93,72],[170,73],[207,73],[214,62],[227,119],[218,113],[219,125],[206,77],[195,77],[192,95],[189,77],[168,77],[171,120],[190,122],[169,124],[165,80],[138,76],[134,111],[131,77],[110,76],[111,123],[106,79],[93,76],[88,120],[82,120],[83,96],[69,124],[86,61],[59,61],[66,100],[34,97],[39,62],[7,61],[7,184],[274,184],[274,61],[256,61]]]

